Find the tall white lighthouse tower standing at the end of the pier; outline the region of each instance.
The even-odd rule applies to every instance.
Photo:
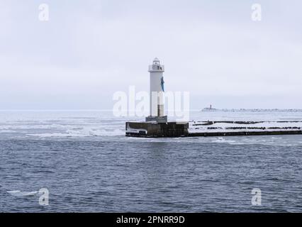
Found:
[[[157,57],[153,64],[149,65],[148,72],[150,72],[150,116],[146,121],[167,122],[167,116],[164,115],[164,65],[160,65]]]

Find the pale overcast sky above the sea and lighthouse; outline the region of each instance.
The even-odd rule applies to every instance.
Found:
[[[112,109],[115,92],[148,91],[155,57],[191,109],[302,109],[301,12],[298,0],[1,0],[0,109]]]

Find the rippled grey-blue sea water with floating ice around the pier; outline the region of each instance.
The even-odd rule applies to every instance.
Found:
[[[302,135],[125,137],[133,120],[143,119],[0,111],[0,212],[302,211]],[[302,112],[194,111],[191,120],[302,121]]]

